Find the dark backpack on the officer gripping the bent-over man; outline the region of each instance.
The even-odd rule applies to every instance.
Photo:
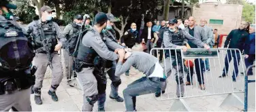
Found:
[[[75,33],[74,35],[72,35],[72,37],[70,39],[67,40],[67,52],[69,54],[69,56],[74,56],[76,57],[77,54],[77,48],[78,48],[78,44],[80,43],[80,41],[82,41],[82,37],[84,37],[84,35],[88,32],[91,31],[91,29],[85,29],[84,31],[78,31],[77,33]],[[81,35],[80,35],[81,33]],[[80,40],[78,41],[78,38],[80,37]]]

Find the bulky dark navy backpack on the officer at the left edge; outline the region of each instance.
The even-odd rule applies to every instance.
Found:
[[[0,21],[0,71],[29,69],[35,52],[22,29],[12,23]]]

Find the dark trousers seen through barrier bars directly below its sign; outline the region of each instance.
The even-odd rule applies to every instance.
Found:
[[[201,85],[201,84],[204,84],[204,74],[203,74],[203,71],[202,71],[202,59],[195,59],[195,72],[197,74],[197,81],[198,83]],[[201,65],[199,65],[201,64]],[[201,67],[200,67],[201,66]],[[201,68],[201,69],[200,69]],[[190,71],[190,74],[188,72],[187,74],[187,81],[189,82],[193,82],[193,73],[194,73],[194,68],[193,67],[190,67],[189,68],[189,71]]]

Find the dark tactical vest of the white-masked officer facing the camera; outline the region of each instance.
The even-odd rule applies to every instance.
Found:
[[[38,24],[38,20],[36,20],[35,26],[36,30],[33,34],[33,41],[35,42],[36,48],[42,48],[42,43],[44,42],[44,39],[46,39],[50,52],[54,52],[55,45],[58,44],[58,41],[56,39],[57,31],[53,22],[50,21]],[[39,53],[46,53],[46,51],[40,51]]]

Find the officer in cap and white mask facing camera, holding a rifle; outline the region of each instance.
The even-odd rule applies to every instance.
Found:
[[[56,22],[52,22],[52,12],[55,12],[48,6],[41,8],[42,17],[28,25],[27,33],[33,37],[35,43],[36,56],[33,59],[33,64],[38,67],[35,73],[35,104],[42,105],[41,88],[43,85],[44,74],[49,66],[52,69],[52,84],[48,94],[52,100],[58,101],[56,90],[63,79],[61,67],[61,58],[58,51],[66,39]]]

